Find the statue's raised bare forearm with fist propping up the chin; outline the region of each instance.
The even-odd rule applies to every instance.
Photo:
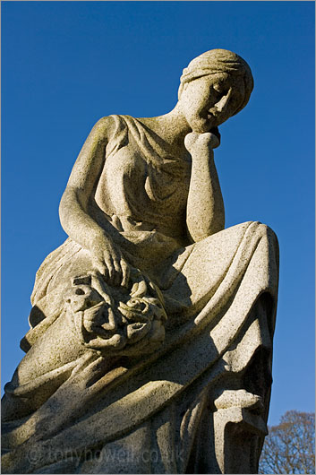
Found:
[[[188,195],[186,225],[193,242],[224,229],[225,210],[214,163],[213,134],[192,132],[185,137],[185,147],[192,155],[192,174]]]

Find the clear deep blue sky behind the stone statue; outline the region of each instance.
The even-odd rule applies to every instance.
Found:
[[[314,410],[314,3],[1,2],[2,386],[23,353],[38,266],[66,235],[58,204],[90,128],[175,106],[189,61],[212,48],[251,65],[248,106],[215,151],[226,227],[278,235],[269,424]]]

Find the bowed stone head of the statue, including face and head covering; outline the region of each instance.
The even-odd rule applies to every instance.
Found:
[[[242,57],[226,49],[211,49],[184,68],[178,97],[192,130],[201,133],[242,110],[252,89],[252,72]]]

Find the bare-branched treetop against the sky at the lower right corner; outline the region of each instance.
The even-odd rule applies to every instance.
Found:
[[[269,427],[259,473],[315,473],[315,414],[288,410]]]

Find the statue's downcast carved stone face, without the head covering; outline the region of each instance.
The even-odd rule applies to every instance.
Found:
[[[179,104],[192,131],[203,134],[233,116],[243,96],[241,78],[218,73],[184,84]]]

